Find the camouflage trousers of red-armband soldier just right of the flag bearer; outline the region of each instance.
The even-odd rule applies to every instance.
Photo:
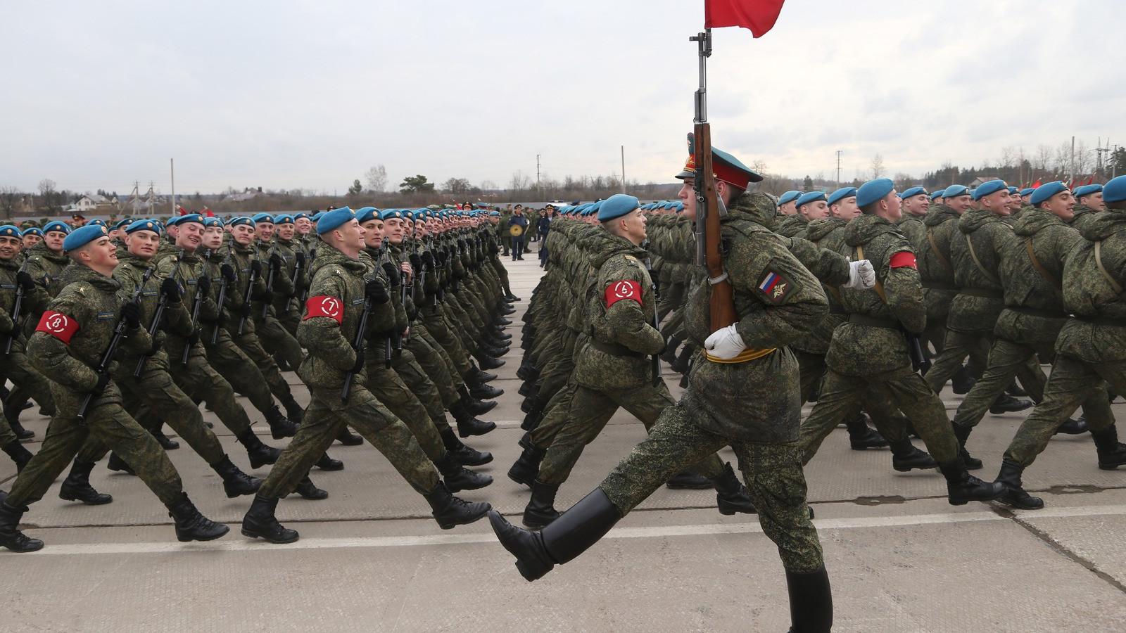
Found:
[[[866,405],[876,428],[888,440],[904,437],[902,429],[890,424],[890,412],[899,409],[911,420],[935,461],[945,464],[957,458],[958,440],[946,407],[911,367],[869,376],[847,376],[830,368],[817,403],[802,422],[797,442],[803,464],[813,458],[829,433],[858,404]]]

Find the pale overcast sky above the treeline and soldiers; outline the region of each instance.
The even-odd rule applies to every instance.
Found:
[[[385,164],[671,181],[703,0],[0,3],[0,186],[343,193]],[[716,146],[851,179],[1126,142],[1120,0],[789,0],[715,32]]]

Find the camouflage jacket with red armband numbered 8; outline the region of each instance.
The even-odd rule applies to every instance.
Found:
[[[122,285],[113,277],[80,265],[68,266],[59,278],[63,289],[47,305],[44,319],[27,344],[27,358],[48,378],[57,414],[71,418],[78,413],[86,394],[98,384],[95,371],[114,337],[120,315]],[[77,327],[65,338],[65,327]],[[142,323],[143,326],[143,323]],[[120,349],[143,353],[152,348],[152,338],[144,328],[127,332]],[[110,364],[113,374],[116,363]],[[113,382],[93,401],[93,405],[120,403],[122,394]]]

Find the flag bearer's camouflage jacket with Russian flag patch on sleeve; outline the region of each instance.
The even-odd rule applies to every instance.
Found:
[[[787,346],[829,312],[821,284],[789,252],[770,222],[774,199],[747,193],[721,220],[724,268],[731,279],[735,327],[751,356],[742,363],[708,360],[712,286],[698,268],[689,280],[685,328],[700,346],[685,404],[700,427],[741,442],[794,442],[801,420],[797,360]]]

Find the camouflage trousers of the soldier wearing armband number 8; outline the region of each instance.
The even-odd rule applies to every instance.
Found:
[[[90,439],[117,453],[166,506],[181,499],[180,475],[160,444],[120,404],[95,400],[87,411],[86,424],[62,416],[51,420],[39,452],[16,478],[7,503],[20,507],[42,499]]]

